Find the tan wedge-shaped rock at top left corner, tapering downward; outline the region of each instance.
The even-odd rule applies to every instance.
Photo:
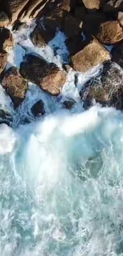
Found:
[[[2,11],[9,17],[10,24],[13,24],[18,15],[29,0],[4,0],[2,1]]]

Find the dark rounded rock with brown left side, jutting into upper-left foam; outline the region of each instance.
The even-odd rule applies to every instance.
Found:
[[[30,37],[35,46],[43,47],[54,38],[56,30],[45,24],[45,27],[42,27],[38,24],[32,31]]]

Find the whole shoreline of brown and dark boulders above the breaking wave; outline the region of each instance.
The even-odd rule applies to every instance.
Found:
[[[9,50],[16,44],[16,33],[35,21],[29,38],[35,47],[45,48],[61,31],[65,36],[68,57],[62,68],[33,53],[25,54],[20,69],[9,67]],[[28,26],[27,26],[28,29]],[[1,0],[0,1],[0,81],[10,96],[14,109],[24,101],[28,82],[58,96],[67,75],[86,73],[103,64],[101,74],[85,82],[80,90],[84,108],[94,101],[103,106],[123,109],[123,1],[121,0]],[[52,46],[54,55],[59,46]],[[116,62],[118,65],[114,64]],[[74,100],[63,102],[71,109]],[[45,114],[40,100],[31,109],[34,116]],[[2,117],[0,113],[0,116]],[[4,114],[5,116],[5,114]],[[10,117],[9,117],[10,118]]]

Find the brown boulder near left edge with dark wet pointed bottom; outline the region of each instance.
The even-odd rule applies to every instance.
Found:
[[[9,68],[3,73],[2,87],[11,97],[14,107],[17,108],[24,100],[27,90],[27,82],[20,75],[17,68]]]

